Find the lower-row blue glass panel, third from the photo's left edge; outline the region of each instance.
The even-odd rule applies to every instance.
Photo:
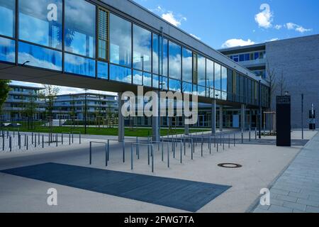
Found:
[[[65,72],[95,77],[95,60],[65,53]]]

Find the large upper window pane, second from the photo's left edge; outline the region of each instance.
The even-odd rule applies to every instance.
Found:
[[[19,38],[62,50],[62,0],[20,0]]]

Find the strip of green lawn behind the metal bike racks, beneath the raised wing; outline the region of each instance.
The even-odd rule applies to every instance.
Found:
[[[2,130],[9,130],[9,131],[18,131],[18,128],[11,128],[11,127],[3,127]],[[31,130],[28,129],[27,126],[24,124],[20,128],[21,132],[36,132],[36,133],[50,133],[50,128],[45,126],[35,126],[35,129]],[[52,133],[67,133],[72,131],[80,131],[84,134],[84,127],[52,127]],[[118,128],[86,128],[87,134],[89,135],[118,135]],[[161,129],[161,135],[167,135],[167,128]],[[193,129],[191,128],[190,133],[208,131],[203,129]],[[172,129],[169,132],[169,135],[176,135],[184,133],[184,128],[177,128],[177,130]],[[138,136],[138,137],[147,137],[148,135],[152,135],[152,128],[125,128],[125,136]]]

